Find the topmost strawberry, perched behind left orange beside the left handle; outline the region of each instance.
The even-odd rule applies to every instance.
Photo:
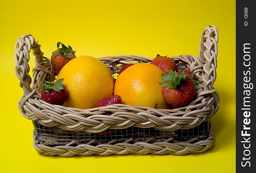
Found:
[[[60,44],[62,48],[59,48]],[[58,76],[62,67],[64,67],[64,65],[67,64],[67,62],[69,62],[71,59],[75,58],[75,51],[72,50],[71,46],[67,47],[61,42],[57,43],[57,48],[57,50],[52,52],[51,64],[55,74]]]

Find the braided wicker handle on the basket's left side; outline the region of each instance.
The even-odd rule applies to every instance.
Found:
[[[20,38],[18,38],[14,47],[14,59],[16,63],[14,71],[20,80],[20,87],[23,88],[24,92],[24,95],[19,101],[19,108],[24,113],[23,116],[25,115],[25,111],[23,110],[23,105],[25,102],[28,101],[32,95],[35,95],[35,97],[40,97],[38,90],[40,89],[40,86],[43,85],[41,82],[42,78],[43,80],[48,78],[51,81],[55,79],[55,76],[53,75],[53,68],[51,63],[49,63],[50,60],[43,57],[44,53],[40,50],[40,47],[41,45],[38,44],[38,41],[33,38],[31,34],[22,35]],[[28,61],[30,60],[31,49],[33,51],[33,55],[36,57],[36,67],[33,68],[33,81],[28,74],[30,71]],[[37,81],[40,82],[38,83]],[[32,87],[30,86],[31,83]]]

